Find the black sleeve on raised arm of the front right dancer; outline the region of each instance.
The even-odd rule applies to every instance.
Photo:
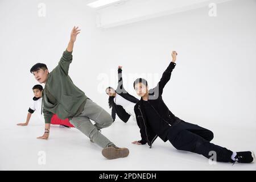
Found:
[[[175,68],[175,65],[176,63],[171,62],[167,67],[166,71],[164,71],[162,78],[160,79],[160,81],[158,82],[158,85],[154,89],[155,95],[158,95],[158,96],[162,95],[163,88],[164,86],[166,86],[167,82],[170,80],[171,73],[172,73],[172,70]]]

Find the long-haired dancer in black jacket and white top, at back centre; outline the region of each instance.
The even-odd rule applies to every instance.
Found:
[[[109,108],[112,107],[112,118],[115,121],[115,114],[123,121],[127,122],[130,117],[136,121],[134,106],[139,101],[131,96],[123,87],[122,67],[118,66],[118,86],[117,89],[112,87],[106,88],[106,94],[109,96]]]

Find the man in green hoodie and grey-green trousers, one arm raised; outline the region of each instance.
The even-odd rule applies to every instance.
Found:
[[[49,73],[46,64],[37,63],[30,72],[43,90],[43,113],[46,123],[42,137],[48,139],[51,117],[57,114],[60,119],[69,121],[98,146],[102,147],[102,155],[107,159],[125,158],[129,155],[128,148],[119,148],[100,133],[100,129],[112,125],[113,119],[108,112],[85,96],[68,76],[69,65],[72,63],[72,51],[76,37],[80,34],[78,27],[73,27],[67,49],[63,52],[59,64]],[[95,125],[90,122],[92,119]]]

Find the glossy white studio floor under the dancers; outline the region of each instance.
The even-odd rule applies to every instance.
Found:
[[[128,147],[127,158],[106,160],[101,148],[90,142],[77,129],[51,127],[48,140],[39,140],[44,126],[31,122],[29,126],[6,125],[1,127],[1,170],[255,170],[256,164],[209,164],[204,156],[177,151],[159,138],[150,149],[147,145],[131,144],[139,138],[137,124],[119,119],[102,133],[117,146]],[[235,128],[214,125],[213,143],[234,151],[256,151],[255,126]],[[226,131],[228,130],[228,133]],[[46,164],[40,165],[39,151],[45,151]]]

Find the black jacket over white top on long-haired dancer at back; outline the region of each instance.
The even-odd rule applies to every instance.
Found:
[[[119,96],[125,98],[126,100],[137,103],[139,100],[135,98],[134,96],[131,96],[125,88],[123,88],[123,78],[122,78],[122,69],[118,69],[118,86],[117,89],[115,89],[116,94]],[[112,118],[113,121],[115,121],[115,114],[118,115],[118,117],[123,121],[127,122],[128,119],[130,118],[130,114],[126,113],[125,109],[121,105],[116,105],[114,101],[111,103],[112,106]]]

